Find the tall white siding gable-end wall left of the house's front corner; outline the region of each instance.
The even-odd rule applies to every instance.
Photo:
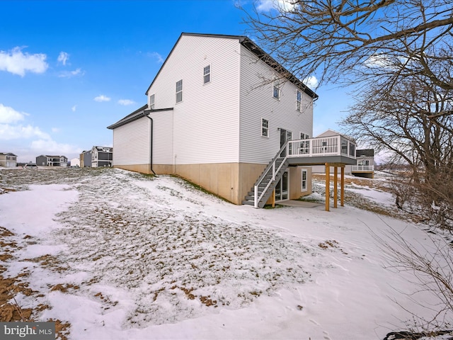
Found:
[[[149,89],[149,96],[155,94],[155,108],[174,108],[176,164],[239,162],[240,52],[237,39],[183,35]],[[207,65],[211,81],[203,84]],[[183,101],[176,103],[180,79]],[[154,131],[159,128],[156,123]],[[167,152],[161,147],[154,152]]]

